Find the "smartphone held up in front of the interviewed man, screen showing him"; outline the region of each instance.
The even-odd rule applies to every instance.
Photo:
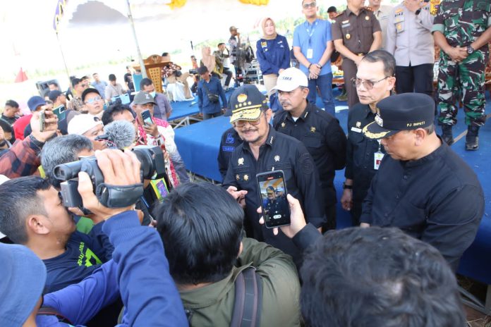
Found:
[[[290,225],[290,206],[286,199],[283,171],[267,171],[256,175],[262,216],[267,228]]]

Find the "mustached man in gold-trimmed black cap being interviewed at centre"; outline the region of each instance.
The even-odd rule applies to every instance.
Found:
[[[231,95],[230,104],[234,124],[243,143],[231,156],[224,187],[241,201],[245,197],[245,218],[253,225],[253,236],[265,241],[301,262],[301,250],[289,237],[259,224],[260,190],[255,175],[265,171],[284,171],[286,190],[298,199],[310,223],[320,228],[325,223],[319,173],[305,146],[269,125],[272,111],[267,99],[255,85],[243,85]]]

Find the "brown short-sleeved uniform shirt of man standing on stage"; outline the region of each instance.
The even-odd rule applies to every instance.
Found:
[[[344,46],[353,54],[367,54],[373,33],[380,31],[379,21],[367,8],[362,8],[358,16],[346,8],[332,24],[332,39],[343,39]]]

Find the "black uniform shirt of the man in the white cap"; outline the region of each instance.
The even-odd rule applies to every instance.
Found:
[[[273,126],[305,145],[319,171],[325,204],[336,203],[334,174],[346,163],[346,135],[339,121],[315,104],[307,104],[297,121],[288,111],[281,111],[274,116]]]

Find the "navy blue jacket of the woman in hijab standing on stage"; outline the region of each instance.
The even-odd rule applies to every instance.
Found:
[[[286,37],[277,35],[275,39],[259,39],[256,49],[262,75],[278,75],[278,70],[290,67],[290,48]]]

